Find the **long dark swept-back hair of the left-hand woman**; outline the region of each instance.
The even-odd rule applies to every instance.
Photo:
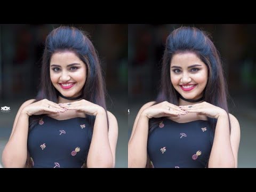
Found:
[[[101,72],[97,50],[95,50],[92,42],[84,31],[67,26],[60,26],[52,30],[46,37],[42,59],[41,82],[34,102],[42,99],[58,102],[58,91],[55,89],[50,79],[50,60],[55,52],[62,51],[75,53],[86,65],[86,83],[82,88],[82,99],[95,103],[107,111],[105,100],[106,86]],[[45,115],[30,116],[29,130],[44,116]],[[86,117],[93,129],[95,117],[90,115]],[[92,131],[93,130],[91,130],[91,134]],[[26,164],[27,166],[29,166],[29,164],[31,165],[29,154]]]

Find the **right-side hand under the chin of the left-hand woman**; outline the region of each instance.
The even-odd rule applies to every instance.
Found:
[[[106,113],[103,107],[96,105],[90,101],[86,101],[85,99],[70,103],[59,103],[59,106],[68,110],[73,109],[93,116],[96,116],[99,113]]]

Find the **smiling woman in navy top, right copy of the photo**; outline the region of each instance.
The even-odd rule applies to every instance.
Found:
[[[228,113],[219,53],[197,28],[167,37],[161,91],[140,109],[129,167],[237,167],[240,128]]]

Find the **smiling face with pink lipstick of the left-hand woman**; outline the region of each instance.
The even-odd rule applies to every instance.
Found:
[[[65,97],[78,97],[86,81],[86,66],[73,52],[54,53],[50,61],[53,86]]]

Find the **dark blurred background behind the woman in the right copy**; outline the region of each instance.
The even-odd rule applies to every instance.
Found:
[[[156,98],[166,37],[181,26],[211,34],[223,61],[229,110],[241,127],[238,167],[256,167],[256,25],[128,25],[129,138],[141,106]]]

